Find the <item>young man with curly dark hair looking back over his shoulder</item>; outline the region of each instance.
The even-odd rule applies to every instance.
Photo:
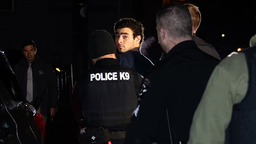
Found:
[[[153,63],[140,53],[144,39],[143,25],[133,18],[121,18],[114,23],[115,44],[118,52],[117,60],[121,65],[135,69],[145,75]]]

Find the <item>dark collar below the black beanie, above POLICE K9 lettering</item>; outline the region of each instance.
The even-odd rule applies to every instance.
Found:
[[[95,67],[106,68],[106,69],[111,69],[118,65],[119,65],[118,61],[114,58],[102,58],[97,60],[96,63],[94,64]]]

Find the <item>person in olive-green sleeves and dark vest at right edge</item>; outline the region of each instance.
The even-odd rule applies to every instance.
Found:
[[[256,37],[254,37],[256,41]],[[188,144],[256,143],[256,42],[213,70],[193,116]]]

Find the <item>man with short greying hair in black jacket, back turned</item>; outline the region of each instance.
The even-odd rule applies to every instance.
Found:
[[[186,143],[194,111],[218,59],[192,40],[189,10],[171,4],[156,15],[162,61],[142,81],[140,104],[126,132],[126,143]],[[171,135],[171,136],[170,136]]]

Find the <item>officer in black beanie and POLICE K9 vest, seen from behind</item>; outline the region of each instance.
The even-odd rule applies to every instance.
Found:
[[[123,143],[142,78],[118,64],[113,38],[105,30],[92,33],[88,52],[94,66],[77,80],[73,91],[86,121],[81,126],[86,127],[81,130],[82,143]]]

